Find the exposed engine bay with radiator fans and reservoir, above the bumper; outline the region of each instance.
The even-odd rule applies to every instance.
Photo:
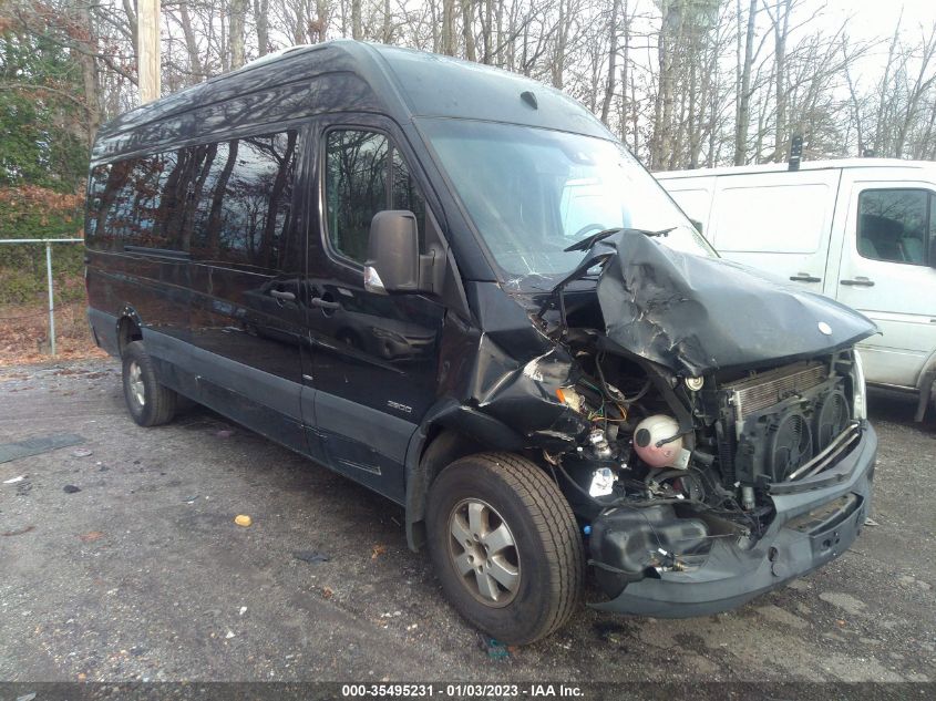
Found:
[[[557,399],[590,429],[543,457],[611,594],[691,569],[718,538],[752,547],[774,514],[774,485],[820,474],[860,435],[852,350],[695,378],[601,350],[598,332],[574,330],[566,343],[582,375]]]

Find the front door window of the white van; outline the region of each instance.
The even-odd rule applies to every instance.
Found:
[[[868,189],[858,196],[858,254],[924,266],[934,195],[924,189]]]

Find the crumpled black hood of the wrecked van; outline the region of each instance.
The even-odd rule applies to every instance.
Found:
[[[827,297],[736,262],[672,250],[642,234],[623,231],[587,257],[607,258],[598,301],[610,340],[679,374],[792,362],[877,331]]]

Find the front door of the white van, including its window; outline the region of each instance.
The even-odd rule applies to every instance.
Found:
[[[936,349],[936,184],[846,172],[840,202],[835,299],[882,331],[861,344],[867,381],[915,388]]]

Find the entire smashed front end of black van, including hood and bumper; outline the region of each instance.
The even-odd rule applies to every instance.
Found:
[[[511,426],[555,476],[608,596],[593,606],[724,610],[854,540],[876,454],[854,351],[867,319],[632,230],[593,241],[553,295],[514,299],[536,341],[505,352],[490,329],[480,355],[503,358],[471,369],[460,410]]]

